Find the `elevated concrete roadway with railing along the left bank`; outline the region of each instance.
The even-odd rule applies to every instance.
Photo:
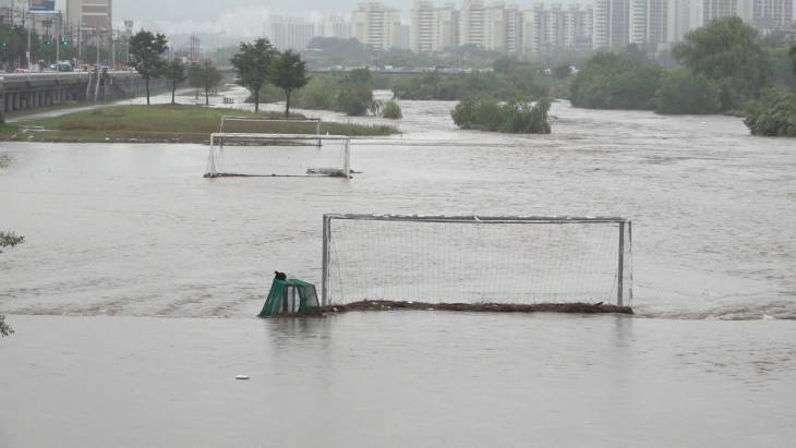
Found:
[[[152,88],[162,80],[153,80]],[[101,101],[135,96],[144,88],[136,72],[61,72],[0,75],[0,112],[73,101]]]

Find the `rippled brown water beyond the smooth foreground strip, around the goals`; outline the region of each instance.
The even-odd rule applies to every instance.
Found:
[[[357,142],[351,182],[206,180],[200,145],[4,144],[2,226],[27,242],[0,258],[0,307],[249,316],[269,273],[318,281],[324,213],[615,215],[641,315],[796,317],[792,140],[564,102],[552,135],[465,132],[453,106],[403,101],[403,135]]]

